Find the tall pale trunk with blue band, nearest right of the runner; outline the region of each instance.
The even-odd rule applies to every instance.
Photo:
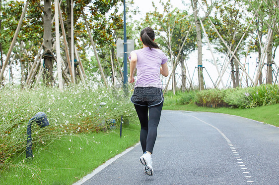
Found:
[[[201,32],[201,23],[198,19],[197,1],[198,0],[191,0],[193,11],[194,11],[196,32],[197,32],[199,90],[202,91],[204,90],[202,32]]]

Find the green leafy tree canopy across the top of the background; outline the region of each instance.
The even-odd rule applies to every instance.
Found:
[[[60,3],[67,33],[66,40],[69,43],[70,0],[61,0]],[[133,0],[128,0],[126,9],[128,15],[128,39],[136,39],[136,48],[140,48],[140,30],[146,26],[152,27],[156,32],[156,42],[168,55],[169,64],[174,68],[171,70],[175,71],[177,63],[179,63],[180,68],[185,68],[189,55],[195,50],[201,51],[201,45],[207,45],[206,37],[204,37],[205,33],[201,31],[202,27],[204,27],[209,41],[214,46],[215,54],[227,55],[227,60],[230,59],[233,87],[242,85],[241,79],[243,75],[246,75],[247,78],[246,59],[243,61],[242,58],[247,57],[249,53],[258,53],[259,69],[257,71],[258,79],[254,79],[253,83],[246,84],[246,86],[255,86],[258,84],[258,80],[261,84],[264,79],[266,79],[266,83],[278,82],[278,64],[275,61],[275,57],[279,46],[279,0],[192,0],[191,4],[183,8],[173,7],[171,0],[160,0],[159,4],[152,3],[154,10],[147,12],[140,21],[134,19],[137,16],[138,9],[134,8],[135,5],[133,4]],[[1,70],[23,6],[24,2],[21,0],[1,0]],[[163,8],[163,11],[159,11],[159,6]],[[113,71],[115,70],[114,75],[118,78],[119,83],[123,78],[123,59],[116,57],[116,41],[123,39],[123,12],[120,10],[122,7],[122,0],[73,1],[74,46],[77,48],[85,73],[97,72],[100,69],[94,57],[97,54],[107,79],[113,79]],[[53,17],[54,5],[52,5],[51,11]],[[28,1],[27,12],[9,60],[9,66],[21,66],[20,76],[24,77],[21,83],[24,83],[24,79],[26,80],[30,70],[34,68],[35,61],[40,56],[38,52],[43,43],[44,34],[43,14],[43,0]],[[94,54],[84,18],[88,23],[92,40],[96,45],[97,53]],[[60,27],[60,32],[62,33],[61,29]],[[51,30],[52,44],[54,44],[54,24],[52,24]],[[62,37],[61,34],[62,59],[66,65],[66,46],[62,42]],[[55,56],[55,48],[53,48],[52,52]],[[201,57],[198,58],[197,65],[203,66],[203,59]],[[216,67],[221,68],[224,63],[219,61]],[[264,70],[265,64],[267,64],[266,72]],[[38,66],[40,65],[38,64]],[[54,70],[56,70],[56,63],[54,63],[54,67]],[[39,70],[39,68],[37,67],[36,69]],[[10,67],[10,74],[12,74],[11,69]],[[202,68],[200,72],[199,78],[202,79],[199,79],[199,83],[204,83]],[[36,74],[38,73],[39,71],[36,72]],[[66,73],[65,75],[67,76]],[[181,73],[183,76],[186,70],[182,70]],[[190,74],[188,75],[190,76]],[[34,80],[37,77],[34,76]],[[175,76],[171,78],[173,78],[173,83],[178,81]],[[182,81],[186,81],[185,78]]]

